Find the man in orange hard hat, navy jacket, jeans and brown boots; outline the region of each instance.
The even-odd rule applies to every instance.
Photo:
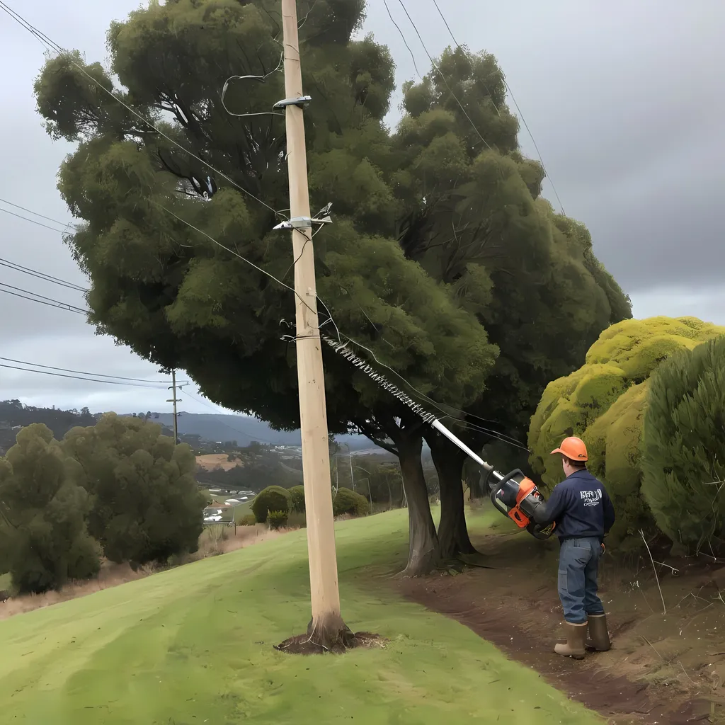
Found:
[[[600,652],[610,647],[604,605],[597,596],[597,568],[615,516],[605,487],[587,471],[584,441],[566,438],[552,451],[557,454],[566,479],[554,487],[545,504],[529,505],[525,513],[543,526],[556,524],[554,533],[561,544],[558,588],[567,641],[554,649],[558,655],[580,660],[586,647]]]

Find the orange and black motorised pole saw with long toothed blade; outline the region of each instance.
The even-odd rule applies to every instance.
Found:
[[[334,339],[326,335],[322,336],[335,352],[348,360],[356,368],[362,370],[373,381],[384,390],[394,395],[400,402],[407,405],[416,415],[420,415],[424,422],[436,429],[440,434],[445,436],[453,444],[460,448],[466,455],[471,457],[481,466],[486,474],[486,481],[489,481],[489,491],[491,502],[494,508],[504,516],[513,521],[519,529],[526,529],[531,536],[537,539],[548,539],[554,532],[554,523],[547,526],[540,526],[532,517],[533,511],[537,506],[544,502],[544,497],[539,491],[537,484],[531,481],[523,471],[518,468],[503,476],[496,471],[492,465],[486,463],[483,458],[477,455],[462,440],[453,434],[446,426],[436,418],[418,402],[403,392],[397,386],[392,384],[387,378],[378,373],[369,363],[366,363],[361,357],[355,355],[347,344],[336,342]]]

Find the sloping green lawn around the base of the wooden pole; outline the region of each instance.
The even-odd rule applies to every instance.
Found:
[[[485,523],[476,518],[474,526]],[[405,511],[337,527],[344,617],[384,650],[272,649],[309,620],[305,531],[0,622],[0,712],[33,725],[601,723],[399,599]]]

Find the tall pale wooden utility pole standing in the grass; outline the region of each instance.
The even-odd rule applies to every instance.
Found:
[[[282,0],[282,26],[285,94],[287,99],[299,99],[304,94],[295,0]],[[285,115],[290,217],[310,218],[302,106],[287,105]],[[307,632],[312,642],[329,648],[331,645],[344,643],[349,630],[340,614],[325,376],[317,313],[311,225],[307,228],[293,228],[292,252],[295,260],[294,289],[297,292],[297,381],[299,422],[302,428],[302,476],[305,482],[307,552],[310,559],[312,597],[312,621]]]

